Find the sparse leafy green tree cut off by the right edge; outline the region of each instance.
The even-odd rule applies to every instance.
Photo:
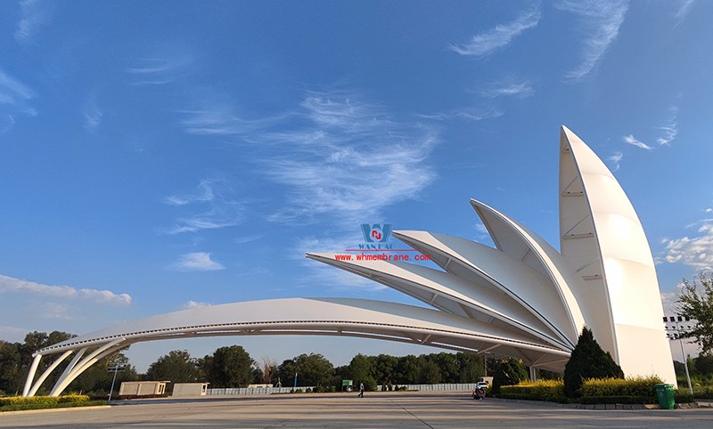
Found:
[[[701,354],[713,352],[713,273],[706,277],[699,273],[697,279],[684,279],[684,287],[676,296],[678,314],[696,320],[693,329],[681,336],[693,338],[701,346]]]

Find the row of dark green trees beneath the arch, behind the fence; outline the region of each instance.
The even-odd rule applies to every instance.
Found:
[[[492,366],[492,362],[490,362]],[[348,365],[334,368],[317,353],[300,354],[280,365],[263,359],[258,363],[239,346],[221,347],[213,355],[192,358],[186,351],[173,351],[156,360],[146,377],[173,382],[208,381],[212,387],[244,387],[248,384],[340,387],[341,380],[376,384],[473,383],[486,372],[483,357],[467,353],[432,353],[402,357],[357,354]],[[295,380],[296,379],[296,380]]]

